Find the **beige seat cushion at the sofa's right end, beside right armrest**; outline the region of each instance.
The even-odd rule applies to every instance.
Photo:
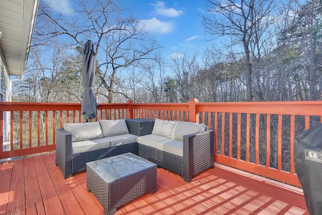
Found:
[[[159,141],[155,144],[155,148],[170,154],[183,157],[183,141],[168,139]]]

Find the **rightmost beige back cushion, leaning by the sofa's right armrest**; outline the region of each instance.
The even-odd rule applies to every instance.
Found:
[[[204,132],[205,124],[178,121],[173,129],[172,139],[183,141],[183,136]]]

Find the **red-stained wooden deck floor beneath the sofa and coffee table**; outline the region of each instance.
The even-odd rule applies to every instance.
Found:
[[[63,179],[55,153],[0,163],[0,214],[103,214],[86,171]],[[301,189],[215,165],[190,183],[157,169],[157,192],[116,214],[308,214]]]

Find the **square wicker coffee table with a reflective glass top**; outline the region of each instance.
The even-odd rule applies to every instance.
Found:
[[[156,191],[156,164],[132,153],[89,162],[87,190],[104,208],[105,214],[144,193]]]

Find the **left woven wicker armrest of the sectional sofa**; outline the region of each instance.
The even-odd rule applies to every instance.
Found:
[[[64,179],[72,175],[72,134],[64,129],[56,129],[56,165]]]

